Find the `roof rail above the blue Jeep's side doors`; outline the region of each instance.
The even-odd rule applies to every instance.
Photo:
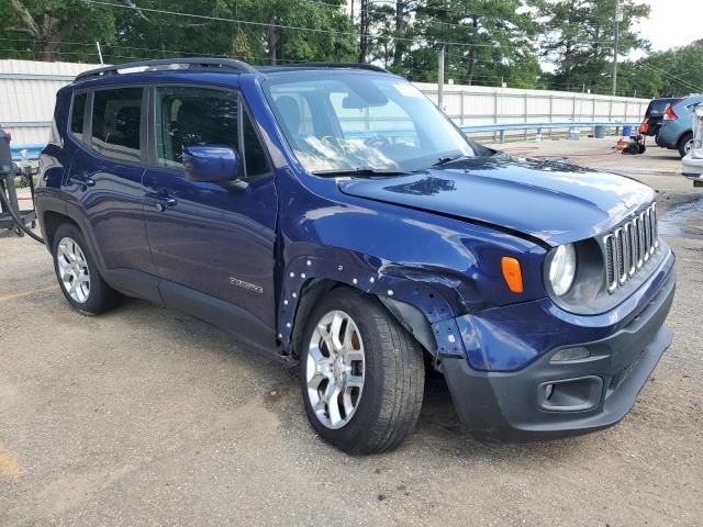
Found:
[[[143,68],[141,71],[159,71],[159,70],[193,70],[204,69],[210,71],[232,71],[237,74],[252,74],[256,69],[242,60],[234,60],[232,58],[158,58],[154,60],[138,60],[136,63],[118,64],[115,66],[105,66],[104,68],[90,69],[79,74],[74,79],[74,82],[78,80],[89,79],[91,77],[107,77],[110,75],[120,75],[121,70]],[[131,72],[131,71],[129,71]]]

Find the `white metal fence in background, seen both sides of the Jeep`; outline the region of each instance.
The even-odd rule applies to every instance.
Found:
[[[0,60],[0,124],[12,133],[13,146],[45,144],[56,91],[94,64]],[[437,101],[437,85],[416,86]],[[444,109],[457,124],[633,121],[641,119],[647,99],[567,91],[518,90],[445,85]]]

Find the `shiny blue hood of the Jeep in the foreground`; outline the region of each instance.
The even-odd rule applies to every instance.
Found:
[[[651,188],[623,176],[502,154],[338,186],[345,194],[490,224],[549,245],[606,232],[655,198]]]

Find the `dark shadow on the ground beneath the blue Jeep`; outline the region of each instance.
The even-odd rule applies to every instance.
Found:
[[[310,436],[312,429],[303,408],[297,365],[275,354],[237,343],[227,333],[193,317],[145,301],[125,299],[120,307],[107,316],[124,315],[130,318],[129,324],[133,324],[134,319],[134,324],[146,326],[142,330],[153,335],[155,340],[159,339],[159,334],[176,337],[186,354],[181,355],[182,360],[199,360],[198,357],[189,356],[190,352],[215,354],[224,359],[226,368],[232,368],[233,377],[241,375],[242,370],[246,371],[249,378],[256,375],[256,384],[261,386],[258,393],[260,404],[277,414],[280,427],[284,428],[287,434],[293,433],[292,437],[287,437],[293,439],[297,435],[305,438]],[[203,379],[202,382],[208,380]],[[429,372],[426,375],[423,408],[415,433],[399,451],[406,455],[415,448],[432,448],[450,456],[478,456],[492,461],[507,461],[524,455],[555,459],[569,457],[577,446],[565,447],[580,440],[582,439],[566,438],[527,444],[479,440],[470,435],[459,419],[444,378]],[[330,448],[331,452],[342,455]]]

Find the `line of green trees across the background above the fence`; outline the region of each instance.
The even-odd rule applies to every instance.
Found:
[[[253,64],[355,61],[419,81],[609,93],[616,0],[90,0],[0,1],[0,57],[105,63],[228,56]],[[703,90],[703,41],[638,61],[644,0],[623,0],[618,93]],[[138,8],[138,9],[134,9]],[[161,11],[161,12],[159,12]],[[189,13],[183,16],[175,13]],[[364,33],[364,36],[361,35]],[[540,64],[554,69],[543,71]]]

